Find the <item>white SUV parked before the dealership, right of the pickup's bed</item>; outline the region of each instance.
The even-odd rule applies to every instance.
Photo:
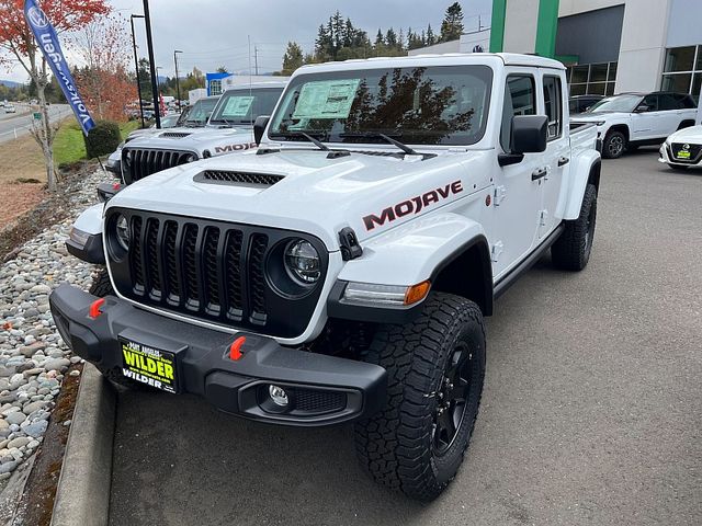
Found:
[[[659,145],[673,132],[692,126],[697,104],[687,93],[622,93],[596,102],[573,118],[597,126],[602,157],[616,159],[624,150]]]

